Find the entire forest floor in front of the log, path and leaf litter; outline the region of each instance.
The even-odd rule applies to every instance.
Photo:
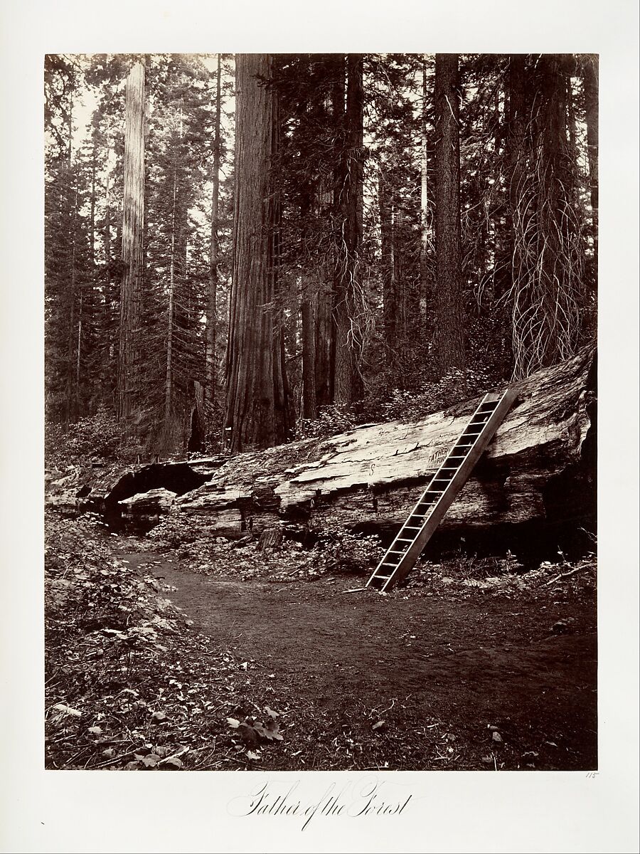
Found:
[[[593,559],[380,595],[48,530],[49,768],[597,767]]]

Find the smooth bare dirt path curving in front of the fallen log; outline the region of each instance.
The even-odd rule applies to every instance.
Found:
[[[123,557],[174,586],[197,631],[272,672],[300,705],[346,719],[386,711],[409,734],[442,722],[463,767],[497,746],[509,746],[505,767],[596,767],[592,600],[347,594],[364,582],[238,582],[153,553]],[[554,633],[565,617],[566,633]]]

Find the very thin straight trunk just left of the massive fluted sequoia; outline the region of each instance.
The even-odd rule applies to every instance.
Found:
[[[209,247],[209,292],[207,295],[207,342],[205,354],[205,400],[211,407],[216,393],[216,326],[218,321],[218,218],[220,203],[220,54],[216,69],[216,119],[213,139],[213,187],[211,204],[211,243]]]

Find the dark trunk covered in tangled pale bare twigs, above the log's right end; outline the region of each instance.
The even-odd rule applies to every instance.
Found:
[[[509,291],[514,376],[567,359],[579,342],[585,252],[567,140],[567,75],[573,61],[544,54],[509,68]],[[527,97],[529,96],[530,97]]]

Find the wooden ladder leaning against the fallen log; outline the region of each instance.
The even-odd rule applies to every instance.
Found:
[[[375,570],[367,587],[380,593],[407,576],[509,412],[515,391],[485,395]]]

